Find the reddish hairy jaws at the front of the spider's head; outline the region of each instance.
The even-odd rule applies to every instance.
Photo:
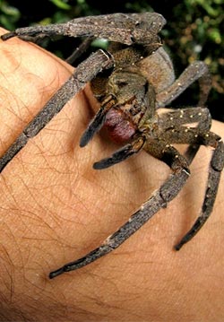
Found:
[[[134,123],[125,117],[121,109],[110,109],[104,126],[107,127],[111,140],[118,144],[131,139],[136,131]]]

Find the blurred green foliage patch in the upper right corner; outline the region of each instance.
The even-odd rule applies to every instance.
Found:
[[[177,4],[172,21],[168,21],[165,39],[180,68],[197,59],[209,65],[212,91],[208,103],[213,117],[221,120],[224,120],[221,109],[224,98],[223,4],[224,0],[185,0]]]

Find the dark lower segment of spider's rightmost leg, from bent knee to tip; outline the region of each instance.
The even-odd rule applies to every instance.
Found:
[[[183,239],[175,246],[176,250],[185,245],[186,242],[193,239],[196,233],[202,228],[203,224],[211,215],[211,211],[216,199],[217,191],[220,183],[221,171],[224,167],[224,144],[222,141],[217,142],[217,147],[213,152],[210,163],[209,177],[205,196],[202,204],[202,212],[197,220],[194,222],[193,227],[188,231]]]

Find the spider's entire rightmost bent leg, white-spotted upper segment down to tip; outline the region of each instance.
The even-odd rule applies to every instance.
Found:
[[[178,122],[179,118],[181,120]],[[179,250],[187,241],[194,237],[211,215],[220,183],[221,170],[224,167],[224,146],[220,136],[209,131],[211,116],[208,109],[180,109],[161,115],[159,122],[161,126],[160,136],[163,140],[173,144],[190,144],[185,152],[189,162],[193,161],[200,145],[214,147],[202,212],[196,222],[194,222],[192,229],[185,234],[185,237],[175,247]],[[198,125],[196,127],[182,126],[191,122],[198,122]]]

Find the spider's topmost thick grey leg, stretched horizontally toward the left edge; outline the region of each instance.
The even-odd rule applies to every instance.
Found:
[[[114,13],[73,19],[70,22],[18,28],[2,36],[37,37],[39,35],[64,35],[70,37],[96,37],[121,42],[126,45],[150,45],[158,42],[159,30],[166,20],[159,13]],[[142,32],[143,31],[143,32]]]

